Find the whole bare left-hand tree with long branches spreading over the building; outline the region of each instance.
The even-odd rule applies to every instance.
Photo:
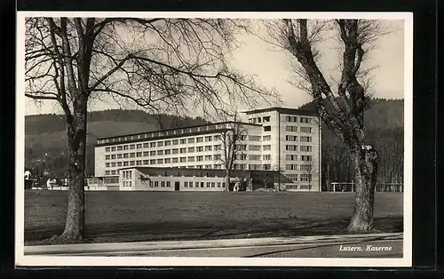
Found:
[[[85,236],[88,101],[131,100],[155,115],[184,115],[189,107],[206,114],[275,97],[226,64],[245,29],[240,20],[26,19],[25,95],[59,103],[67,124],[70,186],[61,239]]]

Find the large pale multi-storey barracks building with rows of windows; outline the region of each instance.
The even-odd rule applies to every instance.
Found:
[[[281,173],[274,176],[273,184],[284,184],[288,190],[321,191],[318,117],[290,108],[244,113],[249,123],[204,124],[98,139],[96,178],[89,179],[88,186],[90,190],[221,191],[229,159],[224,152],[225,135],[230,138],[237,129],[242,133],[235,142],[233,179],[248,171],[256,173],[255,181],[260,171]]]

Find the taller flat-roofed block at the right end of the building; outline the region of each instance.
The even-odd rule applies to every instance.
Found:
[[[265,169],[281,171],[288,190],[321,191],[321,121],[314,112],[292,108],[246,111],[261,124]]]

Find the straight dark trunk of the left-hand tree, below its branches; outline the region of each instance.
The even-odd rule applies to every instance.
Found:
[[[86,105],[74,111],[68,121],[68,201],[67,222],[61,235],[67,240],[80,240],[84,233],[84,171],[86,146]]]

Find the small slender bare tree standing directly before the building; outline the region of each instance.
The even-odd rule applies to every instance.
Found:
[[[232,121],[225,122],[226,129],[219,132],[219,137],[221,141],[220,150],[218,150],[218,162],[222,164],[225,170],[225,190],[229,190],[231,172],[234,170],[234,161],[239,160],[239,157],[245,155],[244,145],[242,142],[246,140],[248,130],[239,121],[239,115],[234,113],[234,115],[226,114],[221,116],[224,120],[229,118]],[[242,159],[242,158],[241,158]]]

